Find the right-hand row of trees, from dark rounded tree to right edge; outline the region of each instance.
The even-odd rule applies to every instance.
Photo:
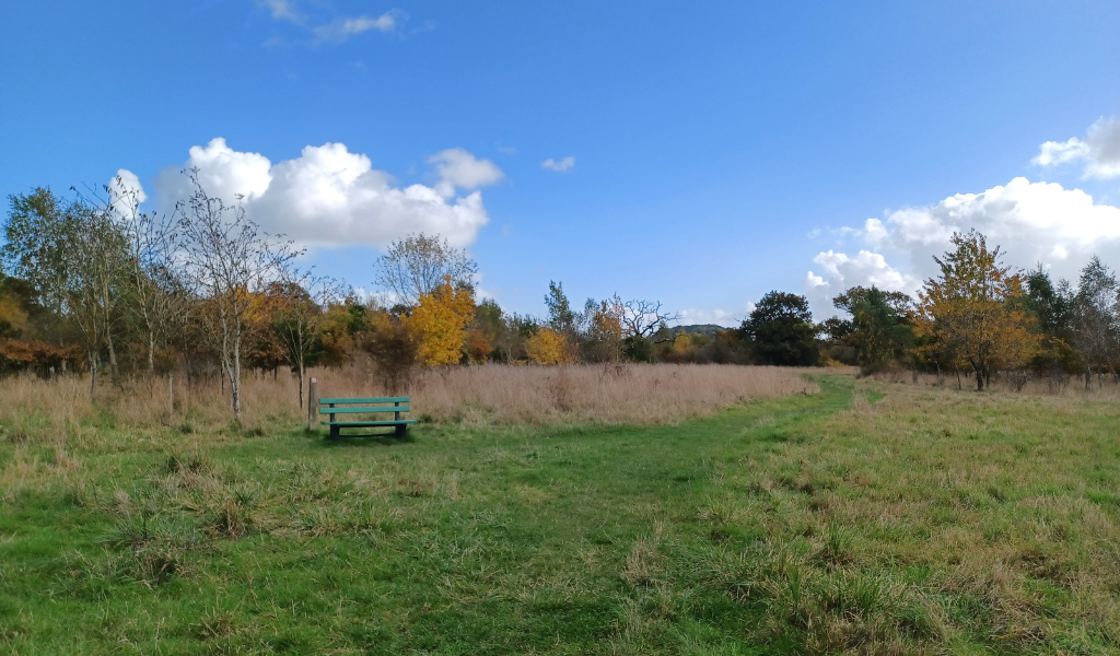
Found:
[[[916,299],[862,287],[836,297],[849,318],[815,327],[819,350],[811,348],[803,297],[767,294],[743,331],[769,343],[758,353],[774,364],[964,374],[977,390],[996,376],[1015,388],[1032,376],[1058,387],[1074,376],[1086,387],[1094,376],[1098,385],[1120,378],[1120,285],[1099,257],[1074,284],[1053,280],[1042,265],[1014,270],[974,231],[954,234],[952,243],[954,250],[934,259],[940,275],[926,280]]]

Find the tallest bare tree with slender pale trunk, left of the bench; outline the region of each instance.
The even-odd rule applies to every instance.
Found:
[[[179,257],[187,279],[209,300],[207,325],[230,379],[233,414],[241,421],[241,346],[246,331],[249,294],[274,277],[301,252],[291,242],[260,232],[244,208],[209,196],[198,169],[184,171],[194,193],[176,205]],[[239,200],[241,197],[239,197]]]

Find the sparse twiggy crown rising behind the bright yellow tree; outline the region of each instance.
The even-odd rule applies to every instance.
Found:
[[[452,288],[473,287],[478,264],[463,249],[438,235],[409,235],[393,242],[375,264],[376,283],[392,292],[395,302],[416,306],[445,281]]]

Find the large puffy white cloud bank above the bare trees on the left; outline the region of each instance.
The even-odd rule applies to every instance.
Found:
[[[260,153],[233,150],[217,138],[193,147],[183,167],[157,176],[156,190],[167,209],[190,193],[179,169],[197,168],[209,195],[230,204],[241,197],[249,217],[264,229],[304,244],[384,245],[413,232],[469,244],[488,222],[477,188],[496,182],[503,174],[493,162],[459,149],[433,156],[432,162],[440,176],[435,187],[400,187],[389,174],[374,169],[368,157],[349,152],[342,143],[308,146],[300,157],[272,163]],[[446,174],[441,165],[449,167]],[[470,193],[455,197],[456,189]]]

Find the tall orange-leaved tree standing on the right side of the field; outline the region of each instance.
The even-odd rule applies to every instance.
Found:
[[[1023,306],[1023,277],[1010,273],[999,246],[976,232],[954,233],[956,249],[934,257],[941,275],[918,294],[918,335],[931,336],[972,368],[977,391],[997,367],[1016,368],[1033,355],[1037,335]]]

